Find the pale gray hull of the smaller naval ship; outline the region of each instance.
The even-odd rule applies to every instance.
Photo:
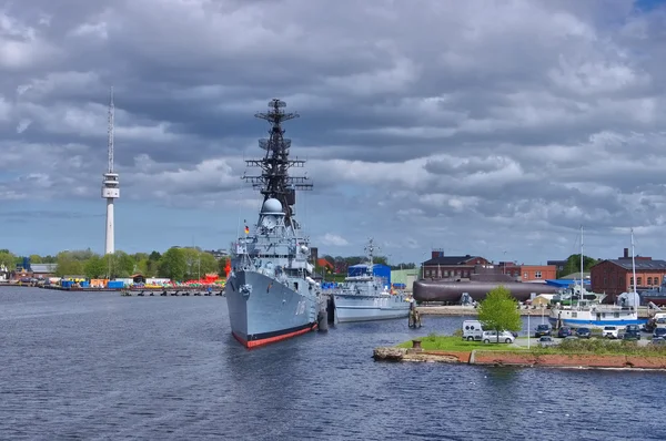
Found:
[[[410,315],[410,304],[402,296],[332,295],[335,320],[350,321],[385,320]]]

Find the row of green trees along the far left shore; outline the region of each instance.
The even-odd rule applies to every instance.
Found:
[[[199,247],[171,247],[164,254],[158,252],[128,254],[118,250],[99,255],[90,249],[68,250],[56,256],[31,255],[30,264],[56,264],[56,276],[84,276],[87,278],[125,278],[133,274],[145,277],[163,277],[172,280],[190,280],[216,273],[226,276],[228,257],[216,259]],[[23,256],[9,249],[0,249],[0,266],[13,270],[23,264]]]

